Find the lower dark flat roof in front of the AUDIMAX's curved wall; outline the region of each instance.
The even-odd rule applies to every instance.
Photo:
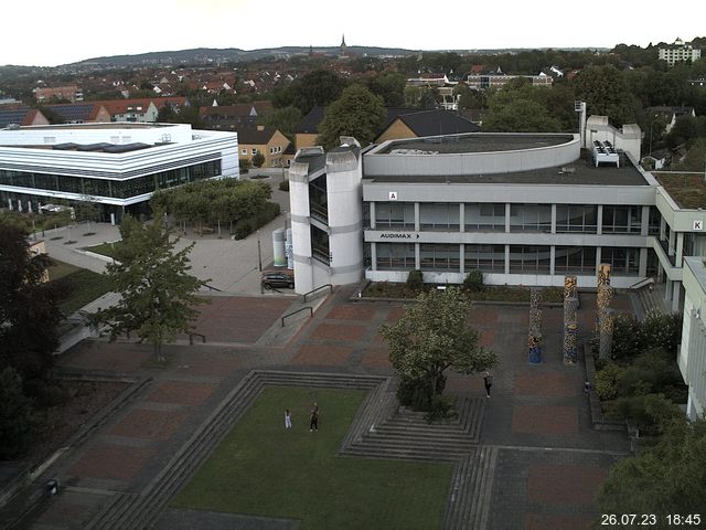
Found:
[[[650,186],[642,173],[625,157],[621,167],[601,165],[598,168],[590,152],[581,150],[581,158],[570,165],[531,171],[491,174],[430,174],[430,176],[375,176],[363,179],[370,182],[409,183],[466,183],[466,184],[564,184],[564,186]]]

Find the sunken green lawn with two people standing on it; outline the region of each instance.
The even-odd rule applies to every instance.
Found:
[[[335,456],[364,396],[267,386],[171,505],[299,519],[302,530],[440,528],[451,463]],[[310,433],[314,401],[319,432]]]

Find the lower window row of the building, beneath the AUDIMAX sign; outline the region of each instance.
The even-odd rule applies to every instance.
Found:
[[[376,243],[377,271],[410,271],[415,268],[415,245],[410,243]],[[554,271],[560,273],[593,274],[597,247],[555,246]],[[505,245],[464,245],[461,256],[459,245],[420,244],[421,271],[484,273],[505,272]],[[510,245],[511,274],[549,274],[552,247],[547,245]],[[637,275],[640,267],[640,248],[601,247],[601,263],[609,263],[613,274]]]

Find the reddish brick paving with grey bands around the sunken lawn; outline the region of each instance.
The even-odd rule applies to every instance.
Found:
[[[58,363],[149,375],[154,381],[47,473],[77,486],[139,492],[249,369],[392,373],[377,329],[397,321],[404,306],[349,301],[354,290],[342,288],[331,295],[285,347],[247,346],[256,344],[291,306],[291,298],[274,295],[213,297],[211,305],[202,306],[199,320],[199,332],[207,336],[208,343],[167,347],[171,361],[165,369],[149,362],[152,351],[145,344],[79,344]],[[628,306],[618,296],[614,307]],[[581,295],[584,333],[595,321],[591,309],[595,296]],[[488,483],[490,520],[485,528],[586,528],[596,517],[596,490],[627,452],[628,443],[620,433],[591,428],[582,367],[561,361],[561,308],[543,312],[545,340],[538,365],[527,363],[527,306],[475,305],[469,321],[480,331],[481,343],[501,358],[493,370],[492,396],[481,432],[481,443],[495,447],[499,455]],[[482,379],[449,373],[447,392],[482,395]],[[54,499],[39,513],[36,528],[43,529],[51,517],[55,517],[55,528],[83,528],[105,497],[84,494],[83,506],[76,502],[78,495],[66,491]]]

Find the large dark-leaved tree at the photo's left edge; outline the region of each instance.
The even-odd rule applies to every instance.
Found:
[[[0,218],[0,367],[14,368],[25,389],[46,378],[58,347],[57,304],[66,288],[44,282],[50,263],[30,254],[23,229]]]

